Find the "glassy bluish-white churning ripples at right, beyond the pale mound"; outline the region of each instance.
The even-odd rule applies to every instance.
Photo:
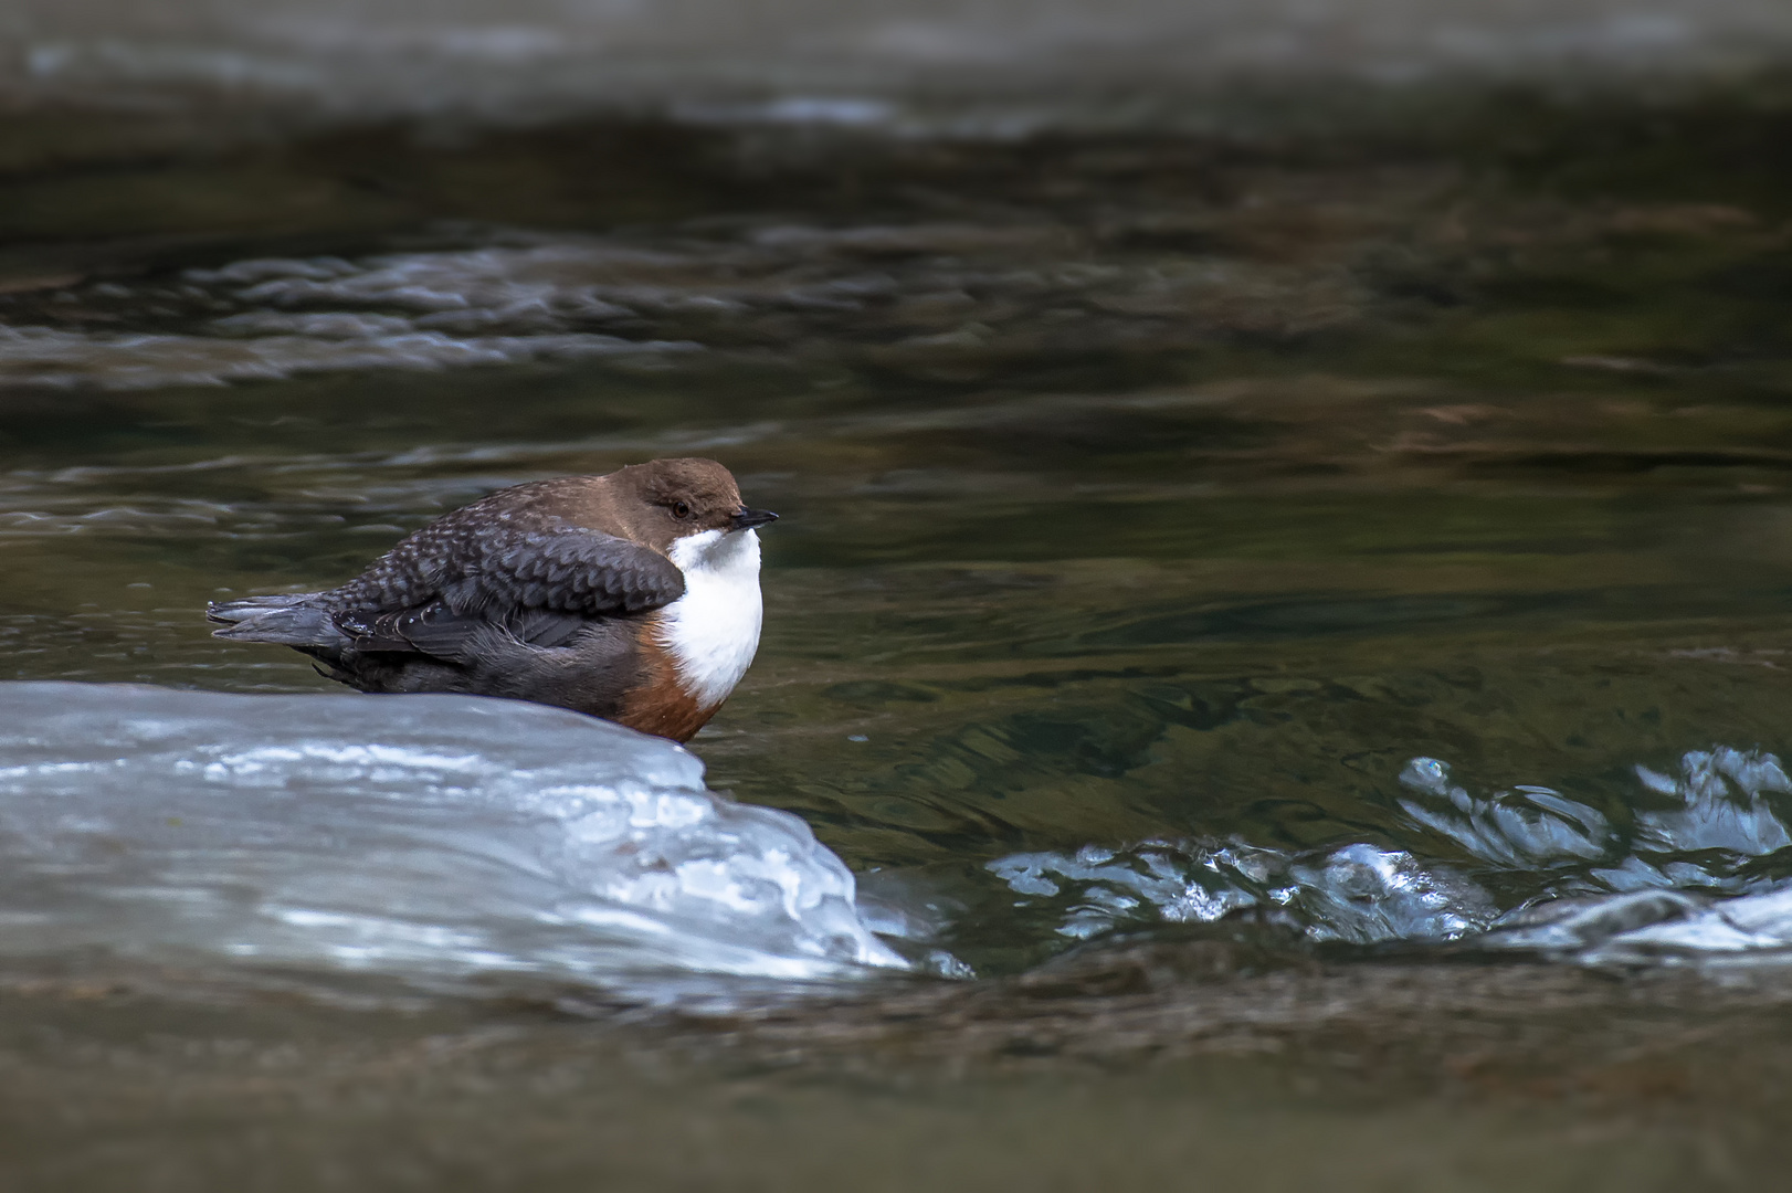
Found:
[[[1600,810],[1548,786],[1471,795],[1448,763],[1414,758],[1400,808],[1450,862],[1362,842],[1285,853],[1150,840],[987,869],[1073,939],[1251,912],[1315,942],[1460,940],[1625,966],[1792,960],[1779,760],[1720,747],[1684,754],[1677,774],[1634,774],[1634,797]],[[1530,892],[1502,912],[1477,881],[1495,876]]]

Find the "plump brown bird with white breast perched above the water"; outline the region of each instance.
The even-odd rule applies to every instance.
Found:
[[[715,460],[500,489],[319,593],[210,602],[358,691],[534,700],[688,742],[760,645],[758,528]]]

